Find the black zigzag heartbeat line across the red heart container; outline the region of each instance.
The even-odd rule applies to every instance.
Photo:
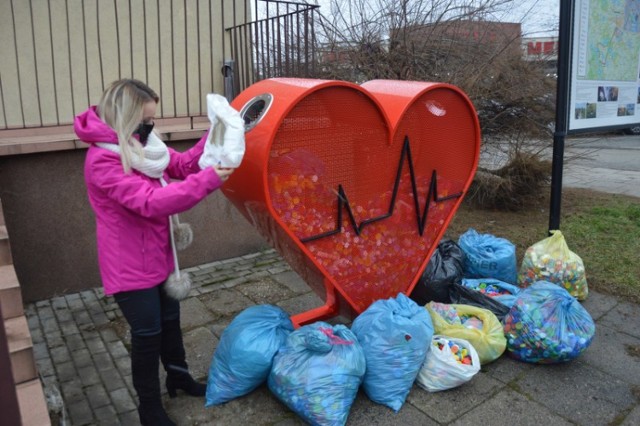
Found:
[[[405,136],[404,144],[402,146],[402,153],[400,154],[400,162],[398,163],[398,171],[396,173],[396,181],[393,185],[393,194],[391,195],[391,201],[389,202],[389,210],[387,213],[372,217],[371,219],[365,219],[360,224],[356,222],[356,218],[353,215],[353,210],[351,210],[351,206],[349,205],[349,199],[347,198],[347,194],[344,192],[344,188],[342,185],[338,185],[338,217],[336,220],[336,227],[332,231],[323,232],[321,234],[313,235],[311,237],[300,239],[301,242],[306,243],[309,241],[319,240],[320,238],[330,237],[331,235],[338,234],[342,232],[342,210],[347,211],[347,215],[349,216],[349,222],[351,222],[351,226],[355,231],[356,235],[360,235],[362,232],[362,228],[367,225],[370,225],[374,222],[378,222],[383,219],[387,219],[391,217],[393,211],[396,207],[396,197],[398,195],[398,188],[400,187],[400,178],[402,176],[402,166],[404,164],[404,159],[407,158],[407,163],[409,164],[409,174],[411,175],[411,192],[413,193],[413,204],[416,211],[416,221],[418,223],[418,232],[420,236],[424,233],[425,224],[427,223],[427,216],[429,213],[429,199],[433,198],[433,201],[436,203],[447,201],[452,198],[460,198],[462,196],[462,191],[451,194],[446,197],[438,196],[438,174],[434,169],[431,173],[431,182],[429,184],[429,192],[427,193],[427,198],[424,203],[424,210],[421,211],[420,205],[418,203],[418,185],[416,184],[416,175],[413,169],[413,160],[411,159],[411,146],[409,145],[409,137]]]

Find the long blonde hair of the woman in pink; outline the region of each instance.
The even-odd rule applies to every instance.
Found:
[[[104,91],[98,104],[98,115],[118,135],[120,159],[125,173],[131,172],[131,158],[143,157],[142,144],[132,137],[147,102],[158,103],[160,98],[149,86],[139,80],[126,78],[114,81]]]

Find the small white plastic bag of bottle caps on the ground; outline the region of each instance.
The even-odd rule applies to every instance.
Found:
[[[469,364],[458,362],[449,342],[466,349],[471,362]],[[478,371],[480,371],[480,358],[471,343],[464,339],[435,335],[416,381],[421,388],[429,392],[438,392],[468,382]]]

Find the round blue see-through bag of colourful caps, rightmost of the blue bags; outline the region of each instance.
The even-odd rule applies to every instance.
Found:
[[[589,347],[595,331],[580,302],[548,281],[522,290],[504,319],[508,354],[537,364],[576,358]]]

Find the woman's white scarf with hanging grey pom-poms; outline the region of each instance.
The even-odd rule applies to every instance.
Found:
[[[120,145],[105,142],[96,142],[96,145],[120,155]],[[160,184],[164,187],[167,186],[167,181],[164,179],[164,171],[169,165],[169,160],[169,148],[155,132],[151,132],[143,148],[143,158],[140,158],[138,154],[132,151],[131,168],[146,176],[160,180]],[[180,276],[176,240],[178,241],[178,250],[186,249],[193,241],[193,231],[189,224],[180,223],[177,214],[169,217],[169,229],[175,272],[167,278],[164,288],[169,296],[181,300],[188,295],[191,289],[191,279],[188,274]]]

